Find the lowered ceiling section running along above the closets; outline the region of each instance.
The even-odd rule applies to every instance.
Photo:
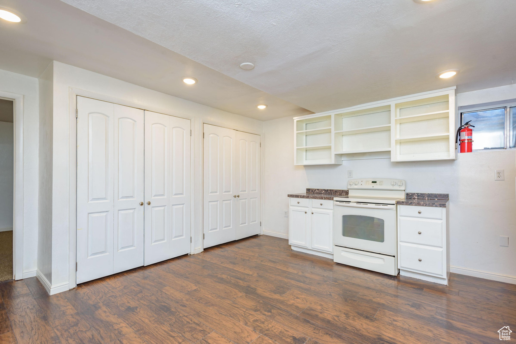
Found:
[[[38,77],[57,60],[257,120],[311,113],[58,0],[0,5],[27,17],[0,20],[0,69]],[[183,76],[199,83],[187,86]],[[269,107],[256,108],[263,103]]]

